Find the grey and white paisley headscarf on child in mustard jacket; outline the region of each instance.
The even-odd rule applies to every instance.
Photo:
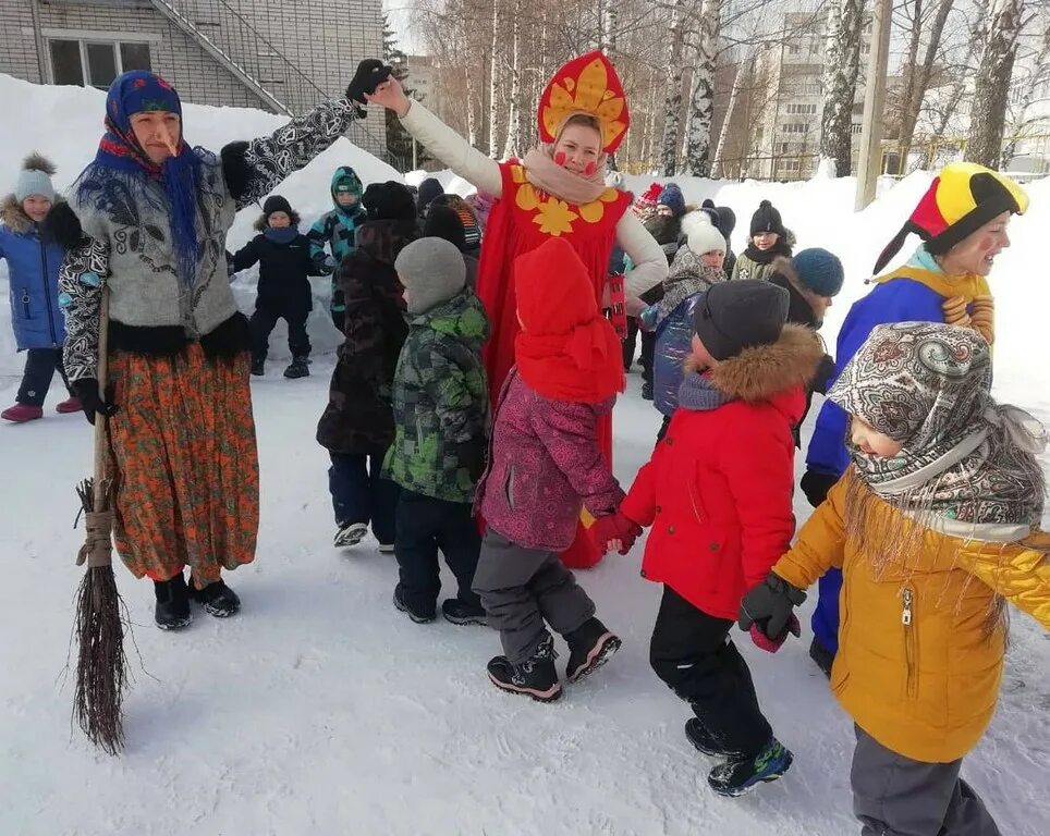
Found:
[[[1024,410],[997,404],[991,379],[988,343],[970,329],[878,325],[828,393],[904,445],[892,458],[851,446],[859,479],[920,527],[991,542],[1026,537],[1042,514],[1036,455],[1046,431]]]

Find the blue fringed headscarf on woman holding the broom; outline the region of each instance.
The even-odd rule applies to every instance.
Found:
[[[107,190],[99,187],[106,177],[117,177],[129,192],[150,202],[154,201],[148,197],[146,183],[160,183],[167,198],[167,206],[162,209],[168,216],[179,275],[186,287],[192,287],[200,258],[196,223],[200,158],[180,136],[178,153],[162,165],[154,163],[135,138],[131,125],[131,118],[136,113],[152,111],[174,113],[182,119],[179,94],[163,78],[136,70],[124,73],[110,85],[106,96],[106,134],[94,162],[81,175],[77,198],[88,201],[91,194],[97,193],[94,198],[96,208],[107,211],[112,207],[105,205]]]

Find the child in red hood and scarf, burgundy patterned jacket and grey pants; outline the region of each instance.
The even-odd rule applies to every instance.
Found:
[[[550,702],[561,683],[545,620],[569,642],[569,681],[620,648],[558,555],[572,543],[583,507],[608,514],[623,496],[596,438],[599,416],[623,391],[623,365],[616,333],[564,238],[521,256],[515,274],[517,365],[500,393],[491,462],[478,485],[488,530],[474,589],[503,643],[489,678]]]

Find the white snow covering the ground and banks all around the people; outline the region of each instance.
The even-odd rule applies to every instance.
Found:
[[[0,112],[16,116],[0,137],[0,192],[33,148],[56,158],[65,185],[94,152],[101,96],[0,76]],[[187,132],[212,149],[277,124],[255,111],[187,108]],[[392,176],[341,140],[280,192],[309,222],[327,208],[330,172],[344,162],[366,180]],[[843,257],[848,283],[826,327],[833,343],[878,250],[927,183],[915,175],[860,214],[852,213],[852,181],[683,185],[689,199],[711,195],[736,210],[737,248],[750,212],[768,196],[802,246],[828,246]],[[992,276],[997,392],[1050,420],[1042,339],[1050,290],[1040,246],[1050,229],[1050,181],[1029,190],[1033,209],[1014,222],[1016,244]],[[239,217],[231,249],[247,238],[255,216]],[[251,278],[237,290],[248,308]],[[323,283],[317,290],[323,297]],[[7,316],[0,316],[3,405],[13,402],[22,362]],[[321,308],[312,321],[321,351],[334,340],[326,327],[331,331]],[[272,357],[281,355],[281,340],[274,333]],[[90,472],[89,427],[80,416],[53,413],[0,427],[0,836],[857,832],[850,812],[852,728],[806,656],[808,630],[806,641],[791,641],[776,656],[741,641],[795,765],[743,799],[707,789],[711,761],[682,735],[687,709],[648,667],[659,588],[638,576],[640,544],[583,574],[624,647],[551,706],[489,685],[485,663],[498,652],[496,634],[445,623],[420,627],[395,612],[393,558],[379,555],[371,540],[342,553],[330,545],[327,458],[314,430],[332,358],[318,355],[308,379],[283,380],[283,364],[273,360],[268,377],[253,381],[262,520],[257,561],[230,577],[242,614],[221,623],[198,611],[185,632],[163,634],[152,626],[150,585],[118,569],[135,624],[127,750],[119,759],[71,730],[62,675],[80,578],[73,557],[83,541],[83,531],[72,529],[73,485]],[[624,482],[647,458],[659,423],[638,385],[631,376],[616,406],[615,460]],[[54,389],[49,409],[57,396]],[[801,496],[796,513],[808,514]],[[999,712],[964,767],[1011,836],[1050,832],[1048,669],[1050,642],[1033,620],[1016,616]]]

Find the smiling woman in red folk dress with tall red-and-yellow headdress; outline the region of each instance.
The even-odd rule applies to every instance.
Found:
[[[522,160],[496,162],[442,124],[418,101],[411,101],[394,78],[368,101],[393,110],[416,139],[456,174],[499,197],[485,228],[478,296],[492,325],[484,360],[493,403],[514,365],[520,325],[514,304],[514,263],[551,237],[564,237],[594,283],[599,307],[609,307],[606,280],[613,245],[635,269],[626,295],[637,297],[668,272],[663,250],[627,211],[633,196],[606,186],[606,167],[627,131],[623,88],[615,69],[600,52],[582,56],[559,70],[539,102],[542,142]],[[612,419],[599,426],[599,443],[612,460]],[[601,555],[583,528],[567,552],[566,566],[593,566]]]

